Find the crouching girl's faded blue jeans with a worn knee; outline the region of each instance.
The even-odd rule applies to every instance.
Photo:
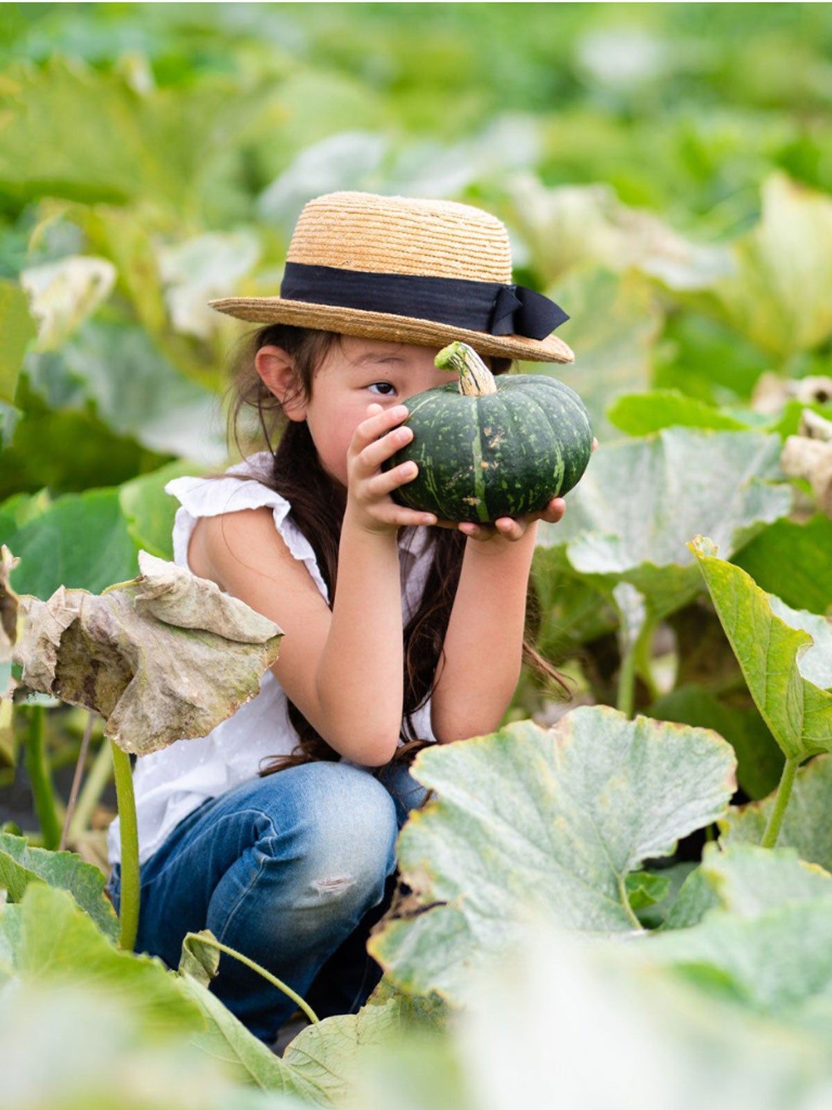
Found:
[[[427,793],[402,764],[373,770],[303,764],[204,801],[142,864],[136,951],[175,968],[185,934],[211,929],[318,1017],[355,1013],[382,977],[366,941],[393,895],[396,838]],[[118,911],[118,864],[108,890]],[[211,990],[267,1043],[296,1009],[226,955]]]

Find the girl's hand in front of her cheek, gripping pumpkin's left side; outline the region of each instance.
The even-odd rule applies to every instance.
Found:
[[[416,463],[403,463],[382,471],[382,462],[413,438],[409,427],[398,425],[408,415],[404,405],[383,408],[372,404],[368,416],[353,433],[347,448],[346,513],[366,532],[385,535],[414,524],[436,524],[433,513],[422,513],[397,505],[390,491],[412,482],[418,473]]]

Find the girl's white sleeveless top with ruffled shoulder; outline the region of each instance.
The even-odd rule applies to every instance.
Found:
[[[253,474],[270,458],[267,451],[230,466],[226,474]],[[261,468],[260,473],[263,473]],[[321,576],[308,539],[292,519],[285,497],[255,477],[247,480],[180,477],[165,485],[181,505],[173,524],[173,562],[187,566],[187,544],[200,516],[217,516],[243,508],[270,505],[274,525],[290,552],[312,576],[324,599],[328,591]],[[409,534],[409,535],[408,535]],[[402,528],[398,534],[399,572],[403,579],[403,626],[416,610],[430,565],[427,528]],[[190,569],[190,567],[189,567]],[[280,624],[280,622],[278,622]],[[430,698],[413,714],[417,736],[436,741],[430,728]],[[160,847],[173,827],[206,798],[213,798],[247,779],[256,778],[261,760],[288,755],[298,735],[288,719],[288,704],[283,687],[271,669],[260,680],[260,693],[243,703],[226,720],[199,739],[176,740],[161,751],[140,756],[133,768],[133,789],[139,821],[139,860],[143,862]],[[399,745],[404,740],[399,738]],[[344,759],[344,763],[352,760]],[[110,862],[121,861],[119,818],[108,831]]]

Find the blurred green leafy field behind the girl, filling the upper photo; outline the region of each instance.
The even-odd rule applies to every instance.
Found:
[[[162,486],[232,457],[251,330],[205,302],[277,293],[323,192],[499,215],[515,280],[571,316],[577,361],[549,369],[601,443],[622,393],[731,410],[764,372],[829,372],[830,57],[826,4],[3,4],[16,586],[170,556]]]

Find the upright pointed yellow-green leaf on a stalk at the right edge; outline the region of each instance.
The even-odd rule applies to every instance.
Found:
[[[832,693],[811,680],[830,677],[828,623],[795,613],[779,598],[772,602],[744,571],[717,556],[712,539],[697,536],[690,549],[751,696],[783,754],[803,759],[832,749]],[[813,644],[806,626],[821,643]]]

